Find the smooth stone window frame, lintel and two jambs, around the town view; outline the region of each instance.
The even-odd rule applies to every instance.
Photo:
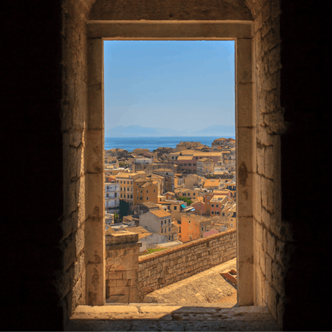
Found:
[[[234,40],[237,144],[237,303],[254,304],[252,159],[253,21],[88,21],[86,121],[86,304],[105,304],[104,40]],[[241,181],[245,173],[244,180]],[[255,190],[255,188],[254,188]],[[100,194],[102,193],[102,194]],[[99,284],[94,280],[98,275]]]

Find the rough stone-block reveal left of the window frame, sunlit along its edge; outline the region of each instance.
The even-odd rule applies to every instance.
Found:
[[[86,20],[93,0],[62,1],[61,133],[63,143],[64,208],[61,221],[63,266],[59,271],[64,324],[79,304],[86,304],[86,265],[94,261],[86,248],[86,124],[87,38]],[[58,129],[60,130],[60,129]],[[100,156],[102,158],[102,156]],[[91,171],[90,171],[91,172]],[[99,259],[102,261],[102,259]],[[91,264],[90,264],[91,265]]]

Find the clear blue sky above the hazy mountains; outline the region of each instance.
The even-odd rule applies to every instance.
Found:
[[[235,125],[234,42],[104,42],[105,129]]]

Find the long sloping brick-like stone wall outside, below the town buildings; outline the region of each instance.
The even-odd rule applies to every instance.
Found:
[[[197,239],[138,259],[138,295],[163,288],[236,257],[236,230]]]

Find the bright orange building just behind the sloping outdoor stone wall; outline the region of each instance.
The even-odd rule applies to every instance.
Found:
[[[181,242],[201,239],[208,225],[211,225],[210,218],[196,214],[181,216],[181,222],[178,222],[178,239]]]

